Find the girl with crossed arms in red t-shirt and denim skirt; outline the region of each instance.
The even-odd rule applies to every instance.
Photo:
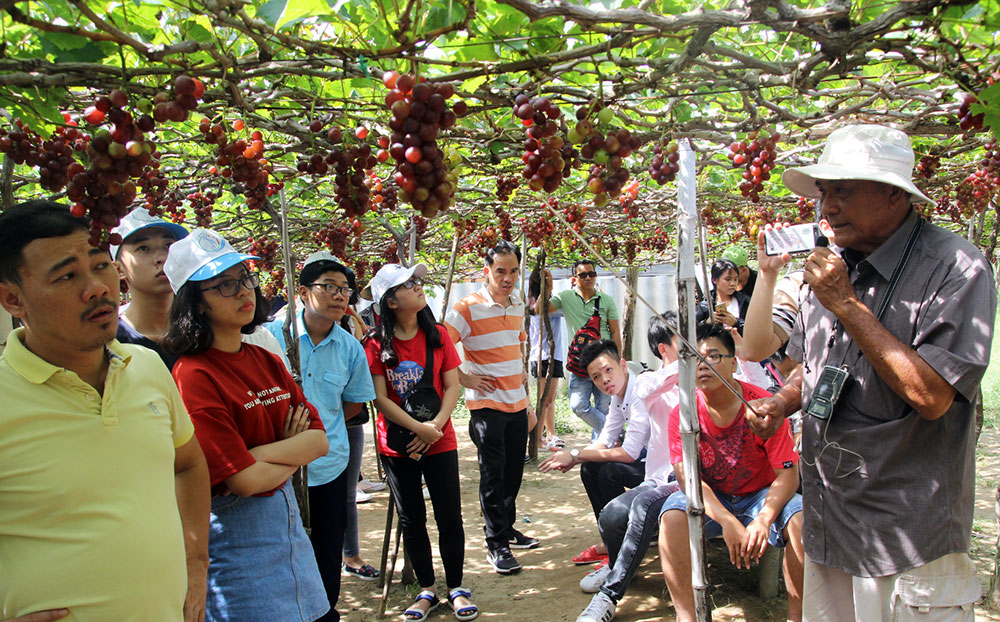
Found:
[[[212,482],[206,620],[308,622],[330,605],[290,478],[326,454],[326,433],[281,360],[241,340],[267,319],[247,259],[195,229],[164,265],[164,343]]]

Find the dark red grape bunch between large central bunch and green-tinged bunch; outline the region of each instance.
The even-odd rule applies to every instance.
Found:
[[[530,99],[522,93],[514,99],[514,116],[527,128],[521,174],[528,180],[529,188],[551,194],[570,174],[570,167],[563,159],[566,141],[559,135],[558,119],[562,111],[547,97]]]

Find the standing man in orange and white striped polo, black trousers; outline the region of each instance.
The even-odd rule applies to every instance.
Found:
[[[469,436],[479,450],[479,505],[486,523],[486,561],[500,574],[521,569],[511,548],[531,549],[538,540],[514,529],[515,502],[528,443],[527,378],[522,363],[524,302],[514,295],[521,252],[501,241],[486,253],[482,289],[459,300],[445,318],[452,340],[462,342],[459,368],[472,416]]]

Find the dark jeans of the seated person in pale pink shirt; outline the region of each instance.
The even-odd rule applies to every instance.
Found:
[[[619,495],[601,511],[598,525],[611,565],[601,591],[616,603],[625,596],[649,549],[657,531],[660,506],[676,490],[674,482],[665,486],[646,483]]]

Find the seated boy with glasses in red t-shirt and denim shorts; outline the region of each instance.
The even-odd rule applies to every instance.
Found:
[[[802,497],[798,454],[788,422],[771,438],[755,435],[747,423],[743,400],[770,395],[764,389],[733,378],[736,347],[718,323],[698,327],[698,351],[705,359],[696,369],[701,490],[705,501],[705,535],[726,541],[729,559],[737,567],[760,560],[767,545],[785,547],[788,619],[802,619]],[[712,370],[718,375],[712,373]],[[660,514],[660,562],[678,622],[695,620],[691,588],[691,549],[687,497],[684,494],[680,408],[668,423],[670,456],[681,490],[670,495]]]

